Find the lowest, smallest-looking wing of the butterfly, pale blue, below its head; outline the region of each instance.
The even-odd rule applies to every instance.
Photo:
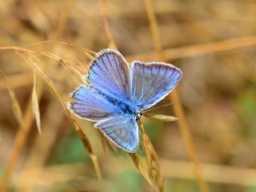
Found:
[[[138,124],[134,117],[119,115],[94,125],[122,150],[134,153],[138,146]]]

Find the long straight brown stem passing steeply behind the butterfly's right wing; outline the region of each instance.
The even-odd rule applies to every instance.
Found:
[[[150,21],[150,29],[151,29],[151,32],[152,32],[153,38],[154,38],[155,49],[160,54],[159,56],[161,56],[162,60],[165,61],[166,58],[163,53],[162,42],[161,42],[160,35],[158,32],[158,23],[155,18],[152,2],[150,0],[144,0],[144,2],[145,2],[145,6],[146,6],[146,12],[147,12],[147,15],[148,15],[148,18]],[[201,166],[198,161],[198,155],[196,154],[196,150],[194,147],[194,142],[192,140],[190,129],[186,123],[185,114],[182,110],[182,105],[179,102],[178,94],[175,90],[171,94],[170,98],[175,103],[174,113],[179,118],[178,126],[180,127],[180,130],[182,132],[182,138],[184,139],[186,148],[187,148],[187,150],[190,154],[190,158],[193,162],[192,165],[193,165],[193,169],[194,169],[194,174],[196,175],[196,177],[198,179],[198,186],[202,192],[208,192],[210,190],[202,176],[203,175],[202,169],[201,169]]]

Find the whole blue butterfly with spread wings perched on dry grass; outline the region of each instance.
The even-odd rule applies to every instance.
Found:
[[[138,121],[143,110],[165,98],[182,78],[182,71],[165,62],[131,62],[117,50],[95,54],[86,83],[70,97],[68,108],[116,146],[134,153],[138,147]]]

